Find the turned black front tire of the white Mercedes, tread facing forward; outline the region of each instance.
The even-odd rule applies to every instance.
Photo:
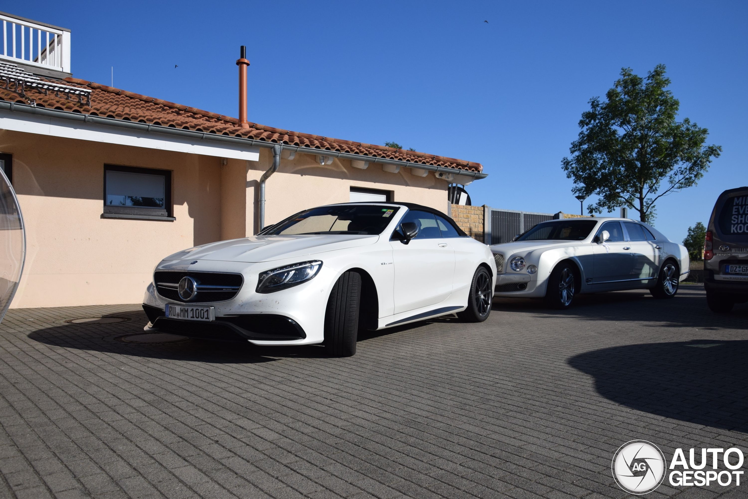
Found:
[[[332,287],[325,310],[325,349],[333,357],[356,353],[361,274],[344,272]]]

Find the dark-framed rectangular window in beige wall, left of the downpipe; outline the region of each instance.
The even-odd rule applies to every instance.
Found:
[[[104,165],[104,214],[171,217],[171,171]]]

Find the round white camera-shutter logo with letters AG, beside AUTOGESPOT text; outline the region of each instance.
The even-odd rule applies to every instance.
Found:
[[[652,442],[626,442],[613,455],[613,478],[618,486],[634,495],[649,494],[665,478],[665,455]]]

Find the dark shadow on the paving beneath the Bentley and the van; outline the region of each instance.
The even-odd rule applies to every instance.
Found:
[[[494,313],[539,312],[581,320],[637,322],[652,328],[748,329],[748,304],[736,304],[730,313],[713,313],[703,287],[681,287],[673,299],[654,299],[643,290],[579,295],[568,310],[553,310],[539,299],[494,299]]]

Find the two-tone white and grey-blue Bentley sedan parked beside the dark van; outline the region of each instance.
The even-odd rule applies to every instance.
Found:
[[[494,296],[545,298],[554,308],[598,291],[648,289],[655,298],[672,298],[689,272],[683,245],[627,218],[545,221],[491,251]]]

